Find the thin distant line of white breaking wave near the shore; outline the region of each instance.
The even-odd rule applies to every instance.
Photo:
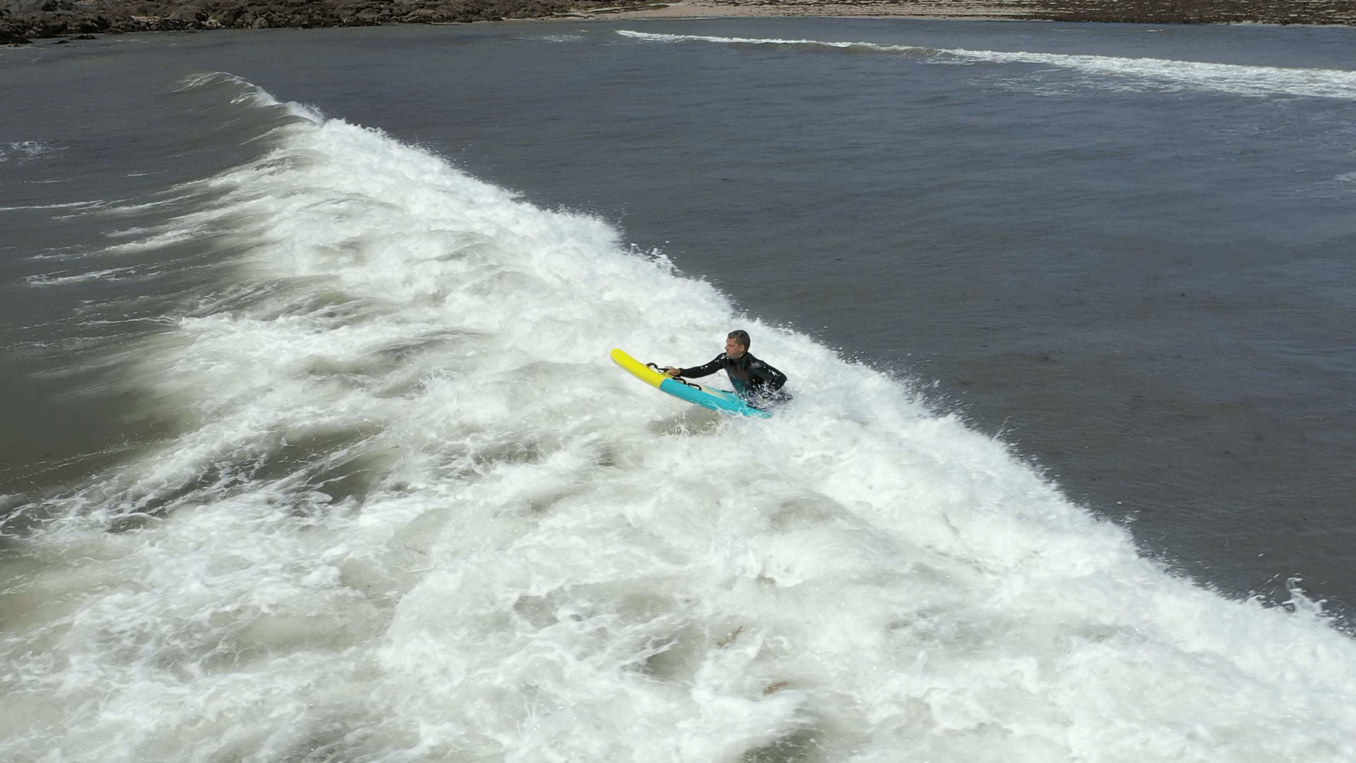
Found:
[[[724,45],[801,45],[913,53],[955,62],[987,61],[998,64],[1045,64],[1094,75],[1111,75],[1172,84],[1234,92],[1238,95],[1306,95],[1356,100],[1356,72],[1344,69],[1285,69],[1279,67],[1245,67],[1207,64],[1166,58],[1117,58],[1112,56],[1070,56],[1064,53],[1003,53],[999,50],[965,50],[960,48],[919,48],[915,45],[881,45],[876,42],[827,42],[819,39],[761,39],[743,37],[709,37],[696,34],[652,34],[618,30],[617,34],[654,42],[716,42]]]

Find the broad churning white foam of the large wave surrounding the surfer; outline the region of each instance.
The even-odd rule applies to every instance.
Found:
[[[909,380],[597,217],[184,87],[274,126],[88,258],[229,253],[88,360],[174,432],[8,525],[0,759],[1356,759],[1356,645],[1298,588],[1168,574]],[[607,357],[736,327],[791,376],[772,420]]]

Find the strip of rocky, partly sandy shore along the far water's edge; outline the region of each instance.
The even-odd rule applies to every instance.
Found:
[[[457,23],[551,16],[926,16],[1356,26],[1356,0],[0,0],[0,45],[132,31]]]

